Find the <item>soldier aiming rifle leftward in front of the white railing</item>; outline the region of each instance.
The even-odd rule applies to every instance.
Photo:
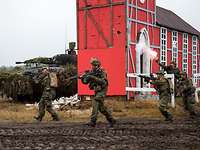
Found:
[[[164,77],[164,72],[159,71],[157,73],[157,79],[150,80],[150,83],[155,86],[156,91],[159,94],[159,110],[165,117],[165,121],[173,121],[173,116],[169,112],[168,103],[171,100],[171,89],[168,79]]]

